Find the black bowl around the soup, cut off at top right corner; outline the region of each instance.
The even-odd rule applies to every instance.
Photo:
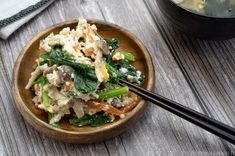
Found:
[[[172,0],[157,0],[167,22],[181,32],[209,39],[235,36],[235,17],[212,17],[185,9]]]

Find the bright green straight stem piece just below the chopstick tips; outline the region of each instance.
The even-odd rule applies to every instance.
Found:
[[[101,92],[98,94],[99,100],[105,100],[105,99],[109,99],[115,96],[123,95],[123,94],[128,93],[128,91],[129,91],[128,87],[125,86],[125,87],[119,87],[113,90]]]

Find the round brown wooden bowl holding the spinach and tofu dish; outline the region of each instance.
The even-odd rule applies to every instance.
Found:
[[[74,143],[91,143],[114,137],[130,128],[144,113],[147,104],[140,99],[139,104],[124,119],[98,127],[75,127],[66,120],[62,120],[61,128],[54,128],[48,124],[47,114],[38,109],[32,102],[33,93],[25,90],[25,86],[32,72],[35,59],[40,55],[39,42],[51,32],[58,33],[64,27],[75,28],[78,21],[67,21],[53,25],[38,33],[20,52],[13,75],[12,93],[16,106],[23,118],[36,130],[54,139]],[[144,45],[127,30],[111,23],[99,20],[88,20],[95,24],[98,33],[104,38],[115,37],[119,40],[120,48],[132,52],[136,56],[134,66],[140,69],[146,76],[143,87],[151,90],[154,86],[154,67],[151,56]]]

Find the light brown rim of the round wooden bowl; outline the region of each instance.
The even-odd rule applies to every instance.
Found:
[[[153,64],[153,61],[152,61],[151,54],[147,50],[147,48],[144,46],[144,44],[134,34],[129,32],[127,29],[125,29],[125,28],[123,28],[121,26],[118,26],[117,24],[113,24],[113,23],[110,23],[110,22],[106,22],[106,21],[103,21],[103,20],[97,20],[97,19],[87,19],[87,21],[88,21],[88,23],[92,23],[92,24],[101,24],[101,25],[107,25],[109,27],[117,28],[122,33],[124,33],[126,36],[128,36],[131,40],[135,41],[135,43],[140,47],[141,51],[144,52],[144,57],[146,58],[146,60],[150,60],[150,61],[146,61],[146,64],[149,67],[148,68],[148,72],[147,72],[147,74],[148,74],[148,82],[147,82],[146,89],[147,90],[153,90],[153,88],[155,86],[155,70],[154,70],[155,67],[154,67],[154,64]],[[48,128],[49,130],[52,130],[52,131],[57,131],[57,132],[61,132],[61,133],[67,133],[67,134],[71,134],[71,135],[82,135],[82,134],[84,134],[84,135],[89,134],[90,135],[90,134],[96,134],[98,132],[105,132],[107,130],[114,129],[114,128],[116,128],[117,126],[119,126],[121,124],[124,124],[125,122],[130,120],[132,117],[134,117],[134,115],[137,112],[141,111],[141,109],[143,107],[145,107],[144,104],[145,104],[146,101],[141,99],[139,101],[139,104],[131,112],[129,112],[128,115],[125,118],[123,118],[121,120],[118,120],[116,122],[113,122],[110,125],[107,124],[107,125],[104,125],[101,128],[98,128],[98,129],[95,129],[95,130],[92,130],[92,131],[83,131],[83,132],[81,132],[81,131],[70,131],[70,130],[55,128],[55,127],[51,126],[50,124],[44,122],[43,120],[39,119],[24,104],[24,101],[22,100],[22,97],[20,96],[19,88],[17,87],[18,86],[19,68],[20,68],[20,65],[21,65],[21,61],[22,61],[22,58],[24,57],[24,55],[26,54],[27,49],[30,47],[30,45],[32,43],[34,43],[38,38],[40,38],[40,36],[48,33],[49,31],[52,31],[53,29],[55,29],[57,27],[61,27],[61,26],[66,27],[67,25],[74,24],[74,23],[78,23],[78,19],[67,20],[67,21],[64,21],[64,22],[60,22],[60,23],[56,23],[54,25],[51,25],[51,26],[43,29],[42,31],[38,32],[36,35],[34,35],[34,37],[31,40],[29,40],[26,43],[26,45],[23,47],[23,49],[18,54],[18,57],[17,57],[17,59],[15,61],[14,68],[13,68],[12,94],[13,94],[14,102],[15,102],[15,104],[17,106],[18,111],[21,113],[22,116],[23,116],[22,113],[28,113],[27,115],[31,116],[33,118],[34,122],[37,122],[41,126],[45,126],[46,128]],[[19,105],[21,105],[24,110],[21,110],[19,108]],[[23,116],[23,118],[24,118],[24,120],[26,120],[24,116]]]

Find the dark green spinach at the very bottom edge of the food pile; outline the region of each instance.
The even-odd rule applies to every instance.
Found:
[[[69,120],[69,123],[74,126],[99,126],[111,122],[111,117],[104,114],[104,112],[98,112],[93,115],[85,114],[81,118],[73,118]]]

